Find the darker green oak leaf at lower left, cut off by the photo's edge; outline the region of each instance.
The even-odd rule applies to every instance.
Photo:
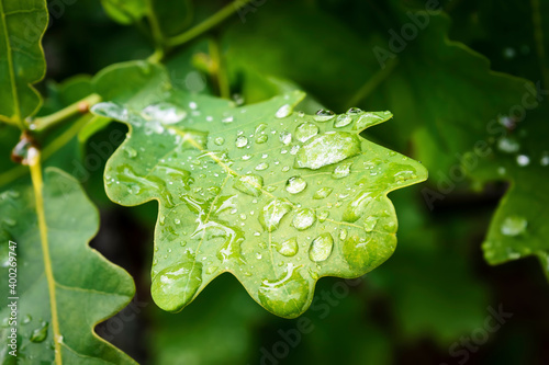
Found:
[[[48,168],[44,186],[49,262],[42,250],[32,187],[23,184],[0,194],[2,277],[8,278],[10,267],[8,240],[16,242],[18,363],[53,363],[57,341],[64,364],[135,364],[92,331],[130,303],[135,293],[132,277],[86,243],[98,230],[99,215],[77,181]],[[45,265],[53,271],[53,283]],[[2,278],[0,318],[4,321],[0,333],[4,344],[10,333],[8,289]],[[1,354],[5,356],[2,364],[11,357],[3,350]]]

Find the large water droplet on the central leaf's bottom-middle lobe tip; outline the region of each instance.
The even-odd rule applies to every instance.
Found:
[[[269,311],[281,317],[295,318],[303,312],[307,301],[309,284],[298,267],[289,263],[282,277],[261,283],[258,297]]]

